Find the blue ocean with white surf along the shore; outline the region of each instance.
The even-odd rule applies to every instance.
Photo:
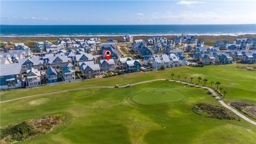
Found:
[[[0,25],[1,37],[242,35],[256,34],[247,25]]]

